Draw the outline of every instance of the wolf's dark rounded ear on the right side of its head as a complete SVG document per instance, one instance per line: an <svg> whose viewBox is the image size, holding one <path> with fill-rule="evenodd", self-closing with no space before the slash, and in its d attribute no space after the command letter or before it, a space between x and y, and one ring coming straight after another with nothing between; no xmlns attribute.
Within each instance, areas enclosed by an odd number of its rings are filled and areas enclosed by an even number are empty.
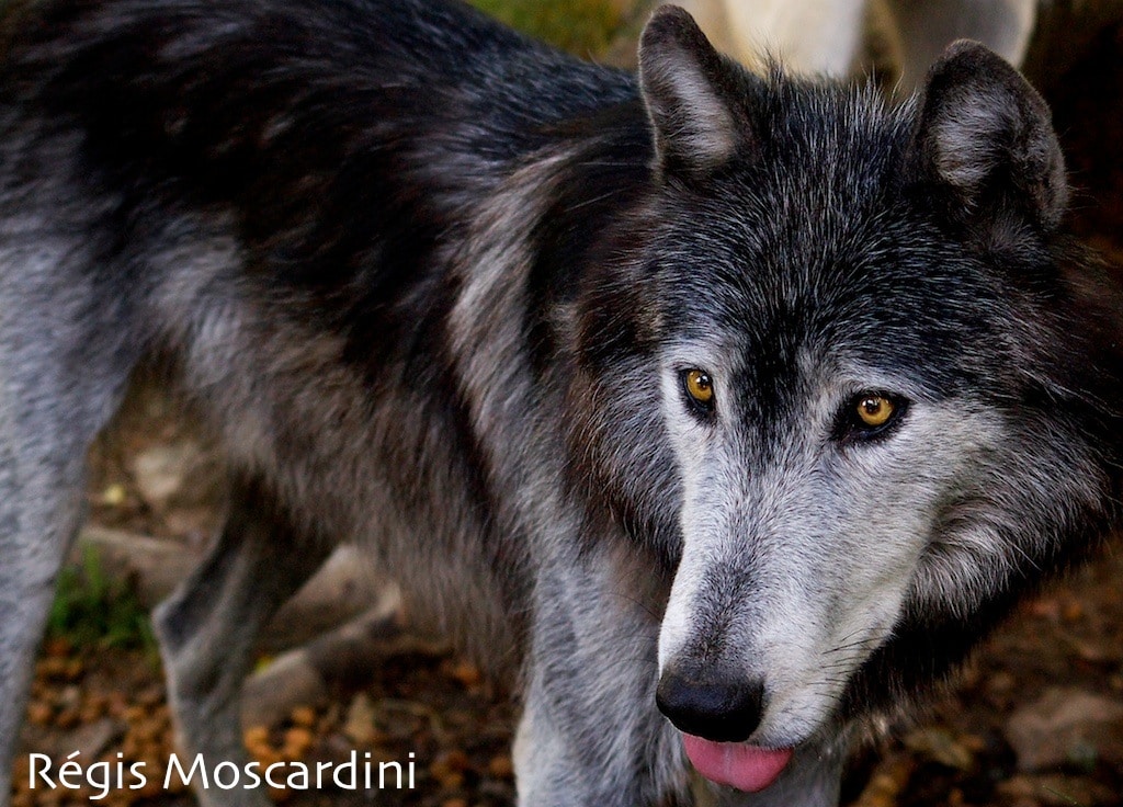
<svg viewBox="0 0 1123 807"><path fill-rule="evenodd" d="M979 43L953 43L932 66L912 149L922 176L967 222L1013 213L1048 230L1065 212L1065 158L1049 108Z"/></svg>

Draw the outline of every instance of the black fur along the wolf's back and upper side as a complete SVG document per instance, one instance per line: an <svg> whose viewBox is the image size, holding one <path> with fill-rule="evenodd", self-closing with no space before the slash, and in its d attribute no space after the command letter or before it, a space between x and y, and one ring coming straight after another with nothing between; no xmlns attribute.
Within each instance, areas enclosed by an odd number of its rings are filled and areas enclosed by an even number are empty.
<svg viewBox="0 0 1123 807"><path fill-rule="evenodd" d="M433 251L563 121L620 102L641 126L629 77L466 7L47 3L25 17L9 20L6 95L83 132L92 192L128 189L126 221L144 205L236 211L247 267L344 333L359 365L426 339L387 301L441 294Z"/></svg>

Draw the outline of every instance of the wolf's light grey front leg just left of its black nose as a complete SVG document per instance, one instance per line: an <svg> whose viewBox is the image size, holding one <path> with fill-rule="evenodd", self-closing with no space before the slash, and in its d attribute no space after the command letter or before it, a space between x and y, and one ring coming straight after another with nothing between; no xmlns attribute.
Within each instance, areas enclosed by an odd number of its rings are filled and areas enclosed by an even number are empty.
<svg viewBox="0 0 1123 807"><path fill-rule="evenodd" d="M685 804L681 743L655 705L660 608L590 572L606 565L586 560L593 566L544 576L536 590L514 744L519 804Z"/></svg>

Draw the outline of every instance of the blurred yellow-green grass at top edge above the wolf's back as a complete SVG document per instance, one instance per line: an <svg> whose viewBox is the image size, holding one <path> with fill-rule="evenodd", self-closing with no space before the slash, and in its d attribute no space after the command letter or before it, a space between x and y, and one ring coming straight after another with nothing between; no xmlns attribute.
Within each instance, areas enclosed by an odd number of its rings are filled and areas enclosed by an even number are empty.
<svg viewBox="0 0 1123 807"><path fill-rule="evenodd" d="M596 56L608 48L624 20L612 0L471 0L512 28L578 56Z"/></svg>

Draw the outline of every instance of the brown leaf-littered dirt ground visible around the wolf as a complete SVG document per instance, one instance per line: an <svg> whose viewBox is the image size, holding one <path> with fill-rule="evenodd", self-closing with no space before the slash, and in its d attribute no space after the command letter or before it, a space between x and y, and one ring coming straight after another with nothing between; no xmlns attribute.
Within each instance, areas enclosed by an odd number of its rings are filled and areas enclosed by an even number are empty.
<svg viewBox="0 0 1123 807"><path fill-rule="evenodd" d="M1123 31L1106 33L1092 55L1050 92L1077 195L1077 227L1123 278ZM137 476L138 457L179 444L162 412L126 419L94 451L92 517L109 526L201 544L217 522L211 489L176 502ZM207 488L206 455L191 478ZM158 465L158 462L156 464ZM144 462L140 464L144 466ZM387 640L367 676L340 682L319 703L272 726L247 731L252 753L280 759L345 759L408 764L416 787L377 794L328 788L275 790L296 805L510 805L513 708L471 664L428 640ZM158 661L150 648L46 642L17 763L15 805L89 804L97 789L27 788L27 753L58 762L73 750L92 759L145 761L149 785L117 789L103 804L188 804L165 790L172 751ZM120 756L118 756L120 754ZM1123 552L1106 547L1028 602L985 643L947 695L911 726L856 760L847 799L862 807L994 805L1108 807L1123 804Z"/></svg>

